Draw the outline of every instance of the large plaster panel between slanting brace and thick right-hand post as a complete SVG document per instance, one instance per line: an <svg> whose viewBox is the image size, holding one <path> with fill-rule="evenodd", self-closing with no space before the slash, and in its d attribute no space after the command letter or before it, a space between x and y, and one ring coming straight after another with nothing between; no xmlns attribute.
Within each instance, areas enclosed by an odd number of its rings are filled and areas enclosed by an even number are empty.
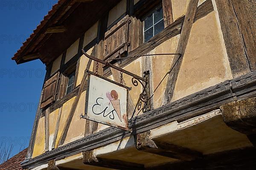
<svg viewBox="0 0 256 170"><path fill-rule="evenodd" d="M233 79L215 12L193 24L173 101Z"/></svg>

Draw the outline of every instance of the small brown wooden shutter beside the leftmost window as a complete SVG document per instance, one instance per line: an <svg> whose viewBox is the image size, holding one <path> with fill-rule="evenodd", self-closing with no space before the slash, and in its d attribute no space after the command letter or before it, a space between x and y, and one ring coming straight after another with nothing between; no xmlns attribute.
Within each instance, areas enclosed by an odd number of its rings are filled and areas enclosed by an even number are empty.
<svg viewBox="0 0 256 170"><path fill-rule="evenodd" d="M55 101L57 88L58 88L59 72L44 83L43 96L41 101L41 107L51 104Z"/></svg>

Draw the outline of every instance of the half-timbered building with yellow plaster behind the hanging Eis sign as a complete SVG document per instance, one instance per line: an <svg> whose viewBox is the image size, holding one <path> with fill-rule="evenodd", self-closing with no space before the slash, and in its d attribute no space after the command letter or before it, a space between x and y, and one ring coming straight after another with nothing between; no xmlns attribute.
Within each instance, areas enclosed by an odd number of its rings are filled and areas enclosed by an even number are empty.
<svg viewBox="0 0 256 170"><path fill-rule="evenodd" d="M58 0L12 58L47 70L22 167L255 169L255 9L254 0ZM126 129L83 119L89 75L129 88Z"/></svg>

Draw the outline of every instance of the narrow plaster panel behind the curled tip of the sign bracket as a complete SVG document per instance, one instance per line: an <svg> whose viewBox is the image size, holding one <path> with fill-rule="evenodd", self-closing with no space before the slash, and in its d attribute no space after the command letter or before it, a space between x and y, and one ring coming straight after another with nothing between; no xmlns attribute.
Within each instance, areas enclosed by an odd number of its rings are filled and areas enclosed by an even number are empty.
<svg viewBox="0 0 256 170"><path fill-rule="evenodd" d="M93 52L93 48L90 48L90 50L88 50L86 53L91 55ZM82 55L80 57L80 62L79 62L79 69L78 69L78 76L77 76L77 81L76 81L76 86L80 85L82 82L82 79L84 77L84 71L87 67L87 63L89 61L89 58L87 58L85 55ZM90 71L93 71L93 62L90 65Z"/></svg>

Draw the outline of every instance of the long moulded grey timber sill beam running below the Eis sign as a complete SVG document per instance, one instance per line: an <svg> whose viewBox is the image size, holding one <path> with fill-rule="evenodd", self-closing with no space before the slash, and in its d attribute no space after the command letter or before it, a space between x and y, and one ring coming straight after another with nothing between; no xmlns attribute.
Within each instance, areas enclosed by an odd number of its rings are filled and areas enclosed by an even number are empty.
<svg viewBox="0 0 256 170"><path fill-rule="evenodd" d="M230 88L233 90L231 91ZM51 159L59 160L76 153L93 150L105 146L106 144L117 142L130 135L143 133L173 121L180 122L213 111L218 109L221 105L233 102L233 93L236 94L238 100L256 96L256 71L232 80L221 82L168 105L137 116L129 122L129 127L133 129L132 133L109 127L47 153L43 153L33 159L26 160L22 163L22 166L25 168L37 167Z"/></svg>

